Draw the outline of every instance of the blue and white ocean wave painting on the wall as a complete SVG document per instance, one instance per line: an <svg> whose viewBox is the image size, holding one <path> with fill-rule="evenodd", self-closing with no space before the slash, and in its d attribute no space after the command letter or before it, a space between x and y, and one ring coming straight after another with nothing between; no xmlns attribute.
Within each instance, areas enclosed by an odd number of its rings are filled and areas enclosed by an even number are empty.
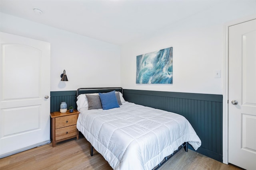
<svg viewBox="0 0 256 170"><path fill-rule="evenodd" d="M172 47L137 56L136 84L172 84Z"/></svg>

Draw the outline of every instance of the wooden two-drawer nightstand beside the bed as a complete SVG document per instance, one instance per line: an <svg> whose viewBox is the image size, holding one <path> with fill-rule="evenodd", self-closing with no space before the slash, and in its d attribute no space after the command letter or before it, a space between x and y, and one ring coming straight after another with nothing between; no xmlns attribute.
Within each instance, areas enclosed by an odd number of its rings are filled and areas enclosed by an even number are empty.
<svg viewBox="0 0 256 170"><path fill-rule="evenodd" d="M55 144L60 141L74 137L76 137L76 140L79 139L79 133L76 129L76 121L79 113L75 109L72 113L69 113L69 110L66 113L60 113L59 111L51 113L52 147L55 147Z"/></svg>

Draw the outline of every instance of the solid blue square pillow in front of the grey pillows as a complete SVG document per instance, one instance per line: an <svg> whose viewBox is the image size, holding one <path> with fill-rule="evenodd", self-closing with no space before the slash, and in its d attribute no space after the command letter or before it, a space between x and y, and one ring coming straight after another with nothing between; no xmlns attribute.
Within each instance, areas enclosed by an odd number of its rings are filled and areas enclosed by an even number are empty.
<svg viewBox="0 0 256 170"><path fill-rule="evenodd" d="M99 93L99 95L103 110L120 107L116 99L115 91L108 93Z"/></svg>

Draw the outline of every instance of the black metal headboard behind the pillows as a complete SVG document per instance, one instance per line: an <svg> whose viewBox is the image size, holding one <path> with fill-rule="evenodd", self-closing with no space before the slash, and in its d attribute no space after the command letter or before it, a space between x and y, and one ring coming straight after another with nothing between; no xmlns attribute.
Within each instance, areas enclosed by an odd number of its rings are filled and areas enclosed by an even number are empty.
<svg viewBox="0 0 256 170"><path fill-rule="evenodd" d="M117 92L121 92L123 94L122 87L105 87L105 88L78 88L76 90L76 97L79 94L88 94L88 93L106 93L116 90Z"/></svg>

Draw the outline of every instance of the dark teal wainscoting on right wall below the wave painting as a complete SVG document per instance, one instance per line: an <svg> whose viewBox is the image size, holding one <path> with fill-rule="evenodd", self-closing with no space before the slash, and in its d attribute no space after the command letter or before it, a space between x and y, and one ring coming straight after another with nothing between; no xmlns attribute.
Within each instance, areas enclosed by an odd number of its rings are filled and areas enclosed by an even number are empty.
<svg viewBox="0 0 256 170"><path fill-rule="evenodd" d="M222 162L222 95L124 89L124 99L183 115L202 141L196 150ZM192 149L192 147L189 147ZM194 149L192 149L194 150Z"/></svg>

